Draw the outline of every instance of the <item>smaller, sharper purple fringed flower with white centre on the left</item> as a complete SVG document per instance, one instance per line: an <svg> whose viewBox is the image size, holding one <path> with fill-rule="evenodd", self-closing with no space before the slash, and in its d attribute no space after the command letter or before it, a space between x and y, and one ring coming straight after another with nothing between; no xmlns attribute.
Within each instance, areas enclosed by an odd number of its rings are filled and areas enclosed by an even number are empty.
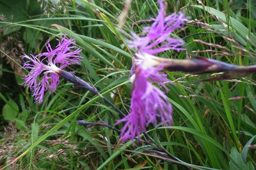
<svg viewBox="0 0 256 170"><path fill-rule="evenodd" d="M28 59L24 63L24 69L31 69L31 72L24 78L24 85L28 86L33 91L36 103L42 103L44 92L49 90L49 93L56 90L60 83L58 73L61 69L71 64L79 64L81 57L78 55L81 48L72 46L75 43L74 39L66 39L66 35L58 39L59 43L54 50L50 43L46 45L47 52L31 56L24 55L24 59ZM40 60L41 59L41 60ZM40 74L44 73L42 79ZM39 81L40 80L40 81Z"/></svg>

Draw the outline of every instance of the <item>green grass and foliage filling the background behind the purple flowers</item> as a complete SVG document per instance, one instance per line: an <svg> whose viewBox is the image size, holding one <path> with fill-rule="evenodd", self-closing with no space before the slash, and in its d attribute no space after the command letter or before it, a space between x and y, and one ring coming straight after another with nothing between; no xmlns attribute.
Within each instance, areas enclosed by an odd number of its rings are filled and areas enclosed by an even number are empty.
<svg viewBox="0 0 256 170"><path fill-rule="evenodd" d="M255 64L255 1L172 1L167 13L188 16L173 36L186 41L186 52L161 57L186 59L188 53L230 64ZM67 34L81 46L83 62L68 71L91 81L116 107L129 113L132 51L125 39L138 20L154 18L153 0L134 0L122 29L118 16L125 2L0 1L0 168L6 169L254 169L256 165L255 74L228 81L200 81L170 72L167 96L173 104L172 127L150 127L145 143L120 144L107 127L81 127L76 120L114 125L118 113L91 92L61 80L56 93L35 104L20 69L24 53L45 51L51 37ZM211 7L208 8L207 6ZM201 41L198 41L201 40ZM160 56L159 55L159 56ZM116 128L121 129L122 124ZM176 159L173 159L173 158Z"/></svg>

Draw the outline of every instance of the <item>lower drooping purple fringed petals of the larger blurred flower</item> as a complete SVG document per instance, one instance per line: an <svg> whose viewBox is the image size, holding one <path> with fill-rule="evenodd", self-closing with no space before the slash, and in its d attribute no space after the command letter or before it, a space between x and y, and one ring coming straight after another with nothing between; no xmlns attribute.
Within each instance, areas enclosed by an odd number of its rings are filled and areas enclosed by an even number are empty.
<svg viewBox="0 0 256 170"><path fill-rule="evenodd" d="M159 67L150 69L136 67L132 83L131 113L116 122L116 124L125 122L121 130L122 141L140 136L141 131L146 131L150 123L157 125L157 118L161 118L164 125L172 124L172 105L164 92L150 83L150 81L157 82L166 89L163 83L168 81L166 74L157 73L158 71Z"/></svg>

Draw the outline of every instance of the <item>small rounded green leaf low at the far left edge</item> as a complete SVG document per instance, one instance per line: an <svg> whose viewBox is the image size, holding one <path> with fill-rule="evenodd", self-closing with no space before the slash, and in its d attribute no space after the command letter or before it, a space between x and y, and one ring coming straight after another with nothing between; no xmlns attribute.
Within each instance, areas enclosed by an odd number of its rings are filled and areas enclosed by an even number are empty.
<svg viewBox="0 0 256 170"><path fill-rule="evenodd" d="M4 120L14 120L19 114L19 106L12 99L3 107Z"/></svg>

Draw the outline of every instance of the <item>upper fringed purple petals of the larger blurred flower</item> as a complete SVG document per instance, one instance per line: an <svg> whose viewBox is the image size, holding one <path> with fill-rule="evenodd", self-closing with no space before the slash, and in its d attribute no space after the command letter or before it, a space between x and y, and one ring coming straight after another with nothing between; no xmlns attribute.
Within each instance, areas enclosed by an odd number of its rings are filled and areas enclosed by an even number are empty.
<svg viewBox="0 0 256 170"><path fill-rule="evenodd" d="M137 53L154 55L166 50L184 50L184 48L180 48L184 44L182 40L170 37L171 32L182 28L185 20L184 13L173 13L164 17L164 3L162 0L158 0L158 2L160 9L157 18L150 27L143 27L143 34L146 34L146 36L138 36L134 32L131 33L133 40L129 41L129 46L136 48ZM161 43L163 44L161 45Z"/></svg>

